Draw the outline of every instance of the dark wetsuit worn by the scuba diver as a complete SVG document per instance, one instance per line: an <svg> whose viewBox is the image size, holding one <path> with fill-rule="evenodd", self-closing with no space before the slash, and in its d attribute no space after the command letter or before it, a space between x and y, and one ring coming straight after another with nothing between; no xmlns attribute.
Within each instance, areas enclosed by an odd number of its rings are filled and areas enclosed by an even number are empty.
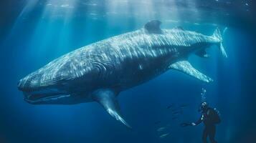
<svg viewBox="0 0 256 143"><path fill-rule="evenodd" d="M204 112L202 112L202 117L197 122L192 123L192 125L196 126L197 124L204 122L204 132L202 135L204 143L207 143L208 136L211 143L217 143L214 139L216 132L216 127L213 119L214 112L214 109L207 108L204 110Z"/></svg>

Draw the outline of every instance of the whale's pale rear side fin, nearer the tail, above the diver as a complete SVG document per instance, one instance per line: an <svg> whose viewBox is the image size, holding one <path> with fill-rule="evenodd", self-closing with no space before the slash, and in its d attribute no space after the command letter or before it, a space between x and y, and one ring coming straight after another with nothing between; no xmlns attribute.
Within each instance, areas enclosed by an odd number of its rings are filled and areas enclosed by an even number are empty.
<svg viewBox="0 0 256 143"><path fill-rule="evenodd" d="M169 68L183 71L184 73L189 74L190 76L195 77L196 79L202 80L204 82L213 82L211 78L194 69L194 67L191 66L189 61L177 61L176 63L171 64Z"/></svg>

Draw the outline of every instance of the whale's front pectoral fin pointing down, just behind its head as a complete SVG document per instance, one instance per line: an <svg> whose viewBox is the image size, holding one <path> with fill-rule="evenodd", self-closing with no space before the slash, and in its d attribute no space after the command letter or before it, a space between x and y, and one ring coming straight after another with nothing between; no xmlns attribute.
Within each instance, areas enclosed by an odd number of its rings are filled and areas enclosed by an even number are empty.
<svg viewBox="0 0 256 143"><path fill-rule="evenodd" d="M125 124L126 127L131 128L131 126L125 122L123 116L120 114L120 107L114 90L98 89L97 91L93 92L93 99L100 103L112 117Z"/></svg>

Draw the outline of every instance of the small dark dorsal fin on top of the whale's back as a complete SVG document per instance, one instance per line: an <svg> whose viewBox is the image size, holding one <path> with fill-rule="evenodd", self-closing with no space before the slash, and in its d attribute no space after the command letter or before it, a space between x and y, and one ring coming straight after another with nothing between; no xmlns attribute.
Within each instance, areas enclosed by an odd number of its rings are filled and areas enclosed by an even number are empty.
<svg viewBox="0 0 256 143"><path fill-rule="evenodd" d="M162 30L160 29L161 21L152 20L144 25L148 34L162 34Z"/></svg>

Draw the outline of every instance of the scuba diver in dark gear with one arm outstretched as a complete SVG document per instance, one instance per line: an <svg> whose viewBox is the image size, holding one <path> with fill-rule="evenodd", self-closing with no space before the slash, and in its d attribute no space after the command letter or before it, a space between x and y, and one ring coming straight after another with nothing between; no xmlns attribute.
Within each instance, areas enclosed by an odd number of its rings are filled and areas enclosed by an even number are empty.
<svg viewBox="0 0 256 143"><path fill-rule="evenodd" d="M217 143L214 139L214 136L216 132L215 124L219 124L221 122L219 118L219 112L217 109L212 109L209 107L207 102L202 102L199 107L199 112L202 113L202 116L197 122L182 123L181 126L196 126L197 124L204 122L204 132L202 135L203 143L207 143L208 136L211 143Z"/></svg>

